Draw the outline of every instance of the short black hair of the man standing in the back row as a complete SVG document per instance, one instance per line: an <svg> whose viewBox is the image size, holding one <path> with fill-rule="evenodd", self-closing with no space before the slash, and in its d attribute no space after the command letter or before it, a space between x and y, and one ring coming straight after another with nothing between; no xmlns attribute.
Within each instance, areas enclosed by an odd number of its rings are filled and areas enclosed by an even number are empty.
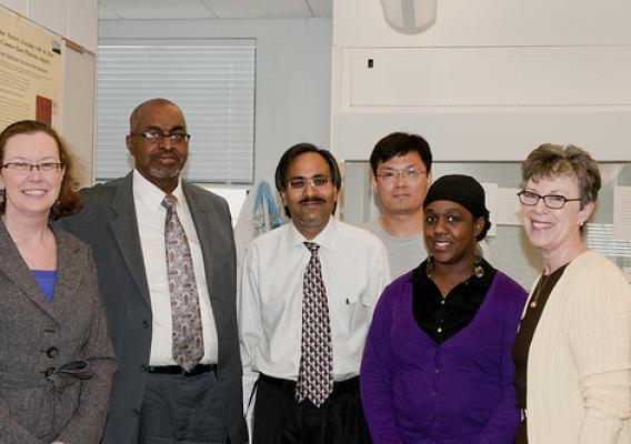
<svg viewBox="0 0 631 444"><path fill-rule="evenodd" d="M372 173L377 174L377 167L379 167L381 162L387 162L399 155L405 155L409 152L419 153L419 157L425 164L428 173L432 171L432 151L428 141L418 134L393 132L381 139L374 145L370 154Z"/></svg>

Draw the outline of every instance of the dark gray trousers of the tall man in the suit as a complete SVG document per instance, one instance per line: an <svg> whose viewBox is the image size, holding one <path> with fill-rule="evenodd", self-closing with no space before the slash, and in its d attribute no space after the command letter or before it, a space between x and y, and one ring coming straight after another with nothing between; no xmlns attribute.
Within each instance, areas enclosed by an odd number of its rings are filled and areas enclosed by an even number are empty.
<svg viewBox="0 0 631 444"><path fill-rule="evenodd" d="M213 371L149 373L138 426L140 444L224 444L221 391Z"/></svg>

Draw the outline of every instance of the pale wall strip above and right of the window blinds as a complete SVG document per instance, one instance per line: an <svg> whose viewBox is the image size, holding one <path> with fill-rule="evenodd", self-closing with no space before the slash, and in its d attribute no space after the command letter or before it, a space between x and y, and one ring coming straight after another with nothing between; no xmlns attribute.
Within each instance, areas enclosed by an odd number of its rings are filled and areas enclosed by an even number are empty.
<svg viewBox="0 0 631 444"><path fill-rule="evenodd" d="M329 145L330 19L101 20L99 38L256 38L256 176L273 183L294 143Z"/></svg>

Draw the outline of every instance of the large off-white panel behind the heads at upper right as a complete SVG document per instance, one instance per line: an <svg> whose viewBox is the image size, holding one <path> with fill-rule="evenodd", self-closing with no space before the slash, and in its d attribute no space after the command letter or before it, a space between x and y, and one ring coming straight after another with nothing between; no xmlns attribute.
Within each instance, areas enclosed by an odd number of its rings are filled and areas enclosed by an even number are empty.
<svg viewBox="0 0 631 444"><path fill-rule="evenodd" d="M519 161L543 142L630 160L629 17L629 0L439 0L409 36L379 0L334 0L333 151L367 159L407 130L439 161Z"/></svg>

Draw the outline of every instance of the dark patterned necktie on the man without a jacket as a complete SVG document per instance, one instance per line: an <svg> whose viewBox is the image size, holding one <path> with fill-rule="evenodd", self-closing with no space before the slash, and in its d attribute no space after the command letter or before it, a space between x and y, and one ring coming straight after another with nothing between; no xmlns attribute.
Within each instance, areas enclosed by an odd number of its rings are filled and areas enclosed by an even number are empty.
<svg viewBox="0 0 631 444"><path fill-rule="evenodd" d="M311 400L319 407L333 391L333 345L327 290L322 282L320 245L304 242L311 259L302 281L302 342L296 401Z"/></svg>

